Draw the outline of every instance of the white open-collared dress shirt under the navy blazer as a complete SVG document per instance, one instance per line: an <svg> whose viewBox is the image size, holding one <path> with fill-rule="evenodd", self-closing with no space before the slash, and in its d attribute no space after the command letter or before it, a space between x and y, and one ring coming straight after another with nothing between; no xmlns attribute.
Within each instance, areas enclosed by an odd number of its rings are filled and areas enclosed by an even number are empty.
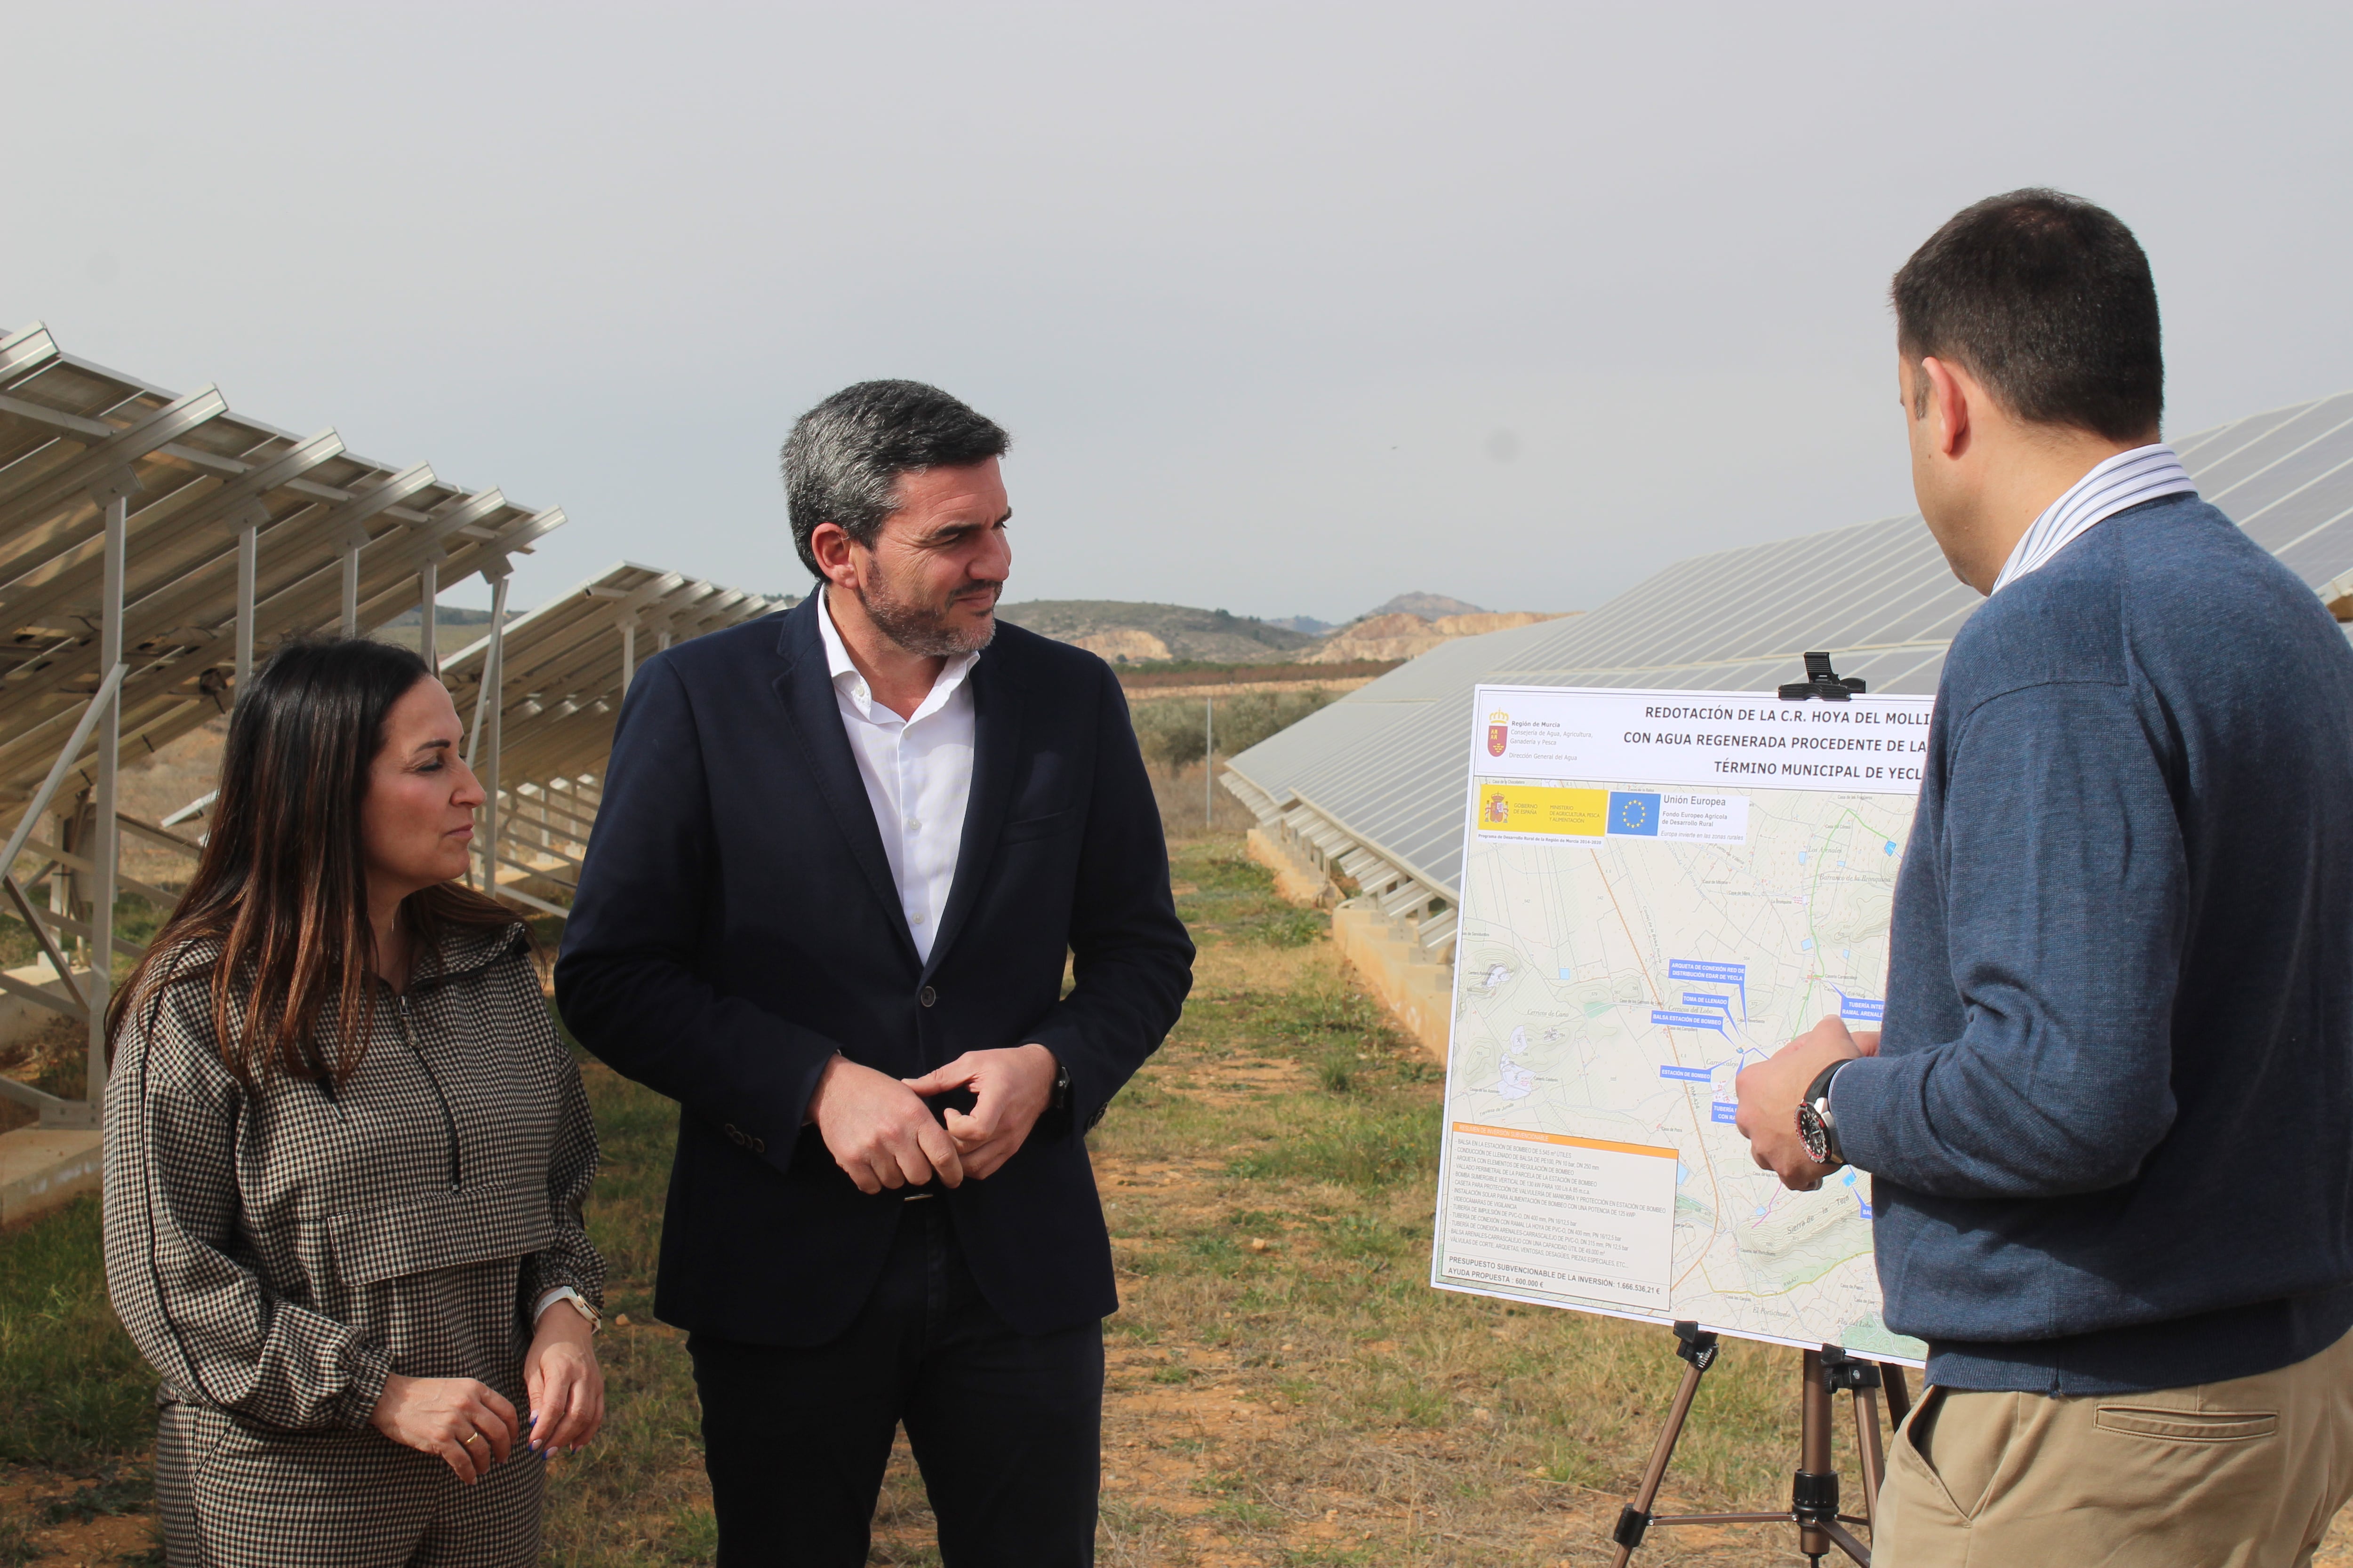
<svg viewBox="0 0 2353 1568"><path fill-rule="evenodd" d="M875 701L866 677L849 663L824 588L816 632L826 639L833 705L842 710L849 752L866 780L866 804L882 830L899 912L915 938L915 952L929 961L939 914L955 884L955 851L965 839L965 802L972 797L972 686L965 677L981 656L951 658L915 717L901 719Z"/></svg>

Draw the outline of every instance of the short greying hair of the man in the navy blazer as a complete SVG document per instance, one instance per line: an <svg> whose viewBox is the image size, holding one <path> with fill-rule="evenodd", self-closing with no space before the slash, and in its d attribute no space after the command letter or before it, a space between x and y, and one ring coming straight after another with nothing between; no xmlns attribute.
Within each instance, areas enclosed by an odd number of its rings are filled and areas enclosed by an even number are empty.
<svg viewBox="0 0 2353 1568"><path fill-rule="evenodd" d="M1012 437L936 386L920 381L859 381L793 421L784 437L784 510L793 548L812 576L809 534L838 522L842 534L873 550L894 510L899 475L925 468L965 468L1000 458Z"/></svg>

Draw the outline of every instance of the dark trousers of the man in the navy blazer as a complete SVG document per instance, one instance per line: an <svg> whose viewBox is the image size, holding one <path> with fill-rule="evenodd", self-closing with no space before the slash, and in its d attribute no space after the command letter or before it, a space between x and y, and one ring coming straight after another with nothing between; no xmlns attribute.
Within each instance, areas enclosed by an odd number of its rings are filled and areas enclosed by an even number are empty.
<svg viewBox="0 0 2353 1568"><path fill-rule="evenodd" d="M1094 1563L1104 1326L1007 1328L944 1201L906 1204L882 1279L838 1340L692 1335L687 1352L720 1568L861 1568L899 1422L946 1568Z"/></svg>

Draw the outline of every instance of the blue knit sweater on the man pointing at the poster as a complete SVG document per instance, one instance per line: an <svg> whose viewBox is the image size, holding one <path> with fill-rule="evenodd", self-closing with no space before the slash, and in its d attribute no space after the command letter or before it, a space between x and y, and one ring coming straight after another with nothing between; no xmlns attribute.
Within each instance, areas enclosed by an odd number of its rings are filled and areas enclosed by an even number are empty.
<svg viewBox="0 0 2353 1568"><path fill-rule="evenodd" d="M1953 639L1831 1112L1932 1382L2184 1387L2353 1326L2353 649L2212 505Z"/></svg>

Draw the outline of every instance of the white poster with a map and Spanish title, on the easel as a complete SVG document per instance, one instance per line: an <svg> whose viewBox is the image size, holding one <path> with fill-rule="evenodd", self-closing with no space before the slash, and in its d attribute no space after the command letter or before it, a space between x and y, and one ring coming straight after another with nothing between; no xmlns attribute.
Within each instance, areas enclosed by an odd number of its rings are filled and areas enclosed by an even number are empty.
<svg viewBox="0 0 2353 1568"><path fill-rule="evenodd" d="M1786 1192L1732 1077L1878 1027L1929 698L1480 686L1431 1284L1918 1361L1871 1178Z"/></svg>

